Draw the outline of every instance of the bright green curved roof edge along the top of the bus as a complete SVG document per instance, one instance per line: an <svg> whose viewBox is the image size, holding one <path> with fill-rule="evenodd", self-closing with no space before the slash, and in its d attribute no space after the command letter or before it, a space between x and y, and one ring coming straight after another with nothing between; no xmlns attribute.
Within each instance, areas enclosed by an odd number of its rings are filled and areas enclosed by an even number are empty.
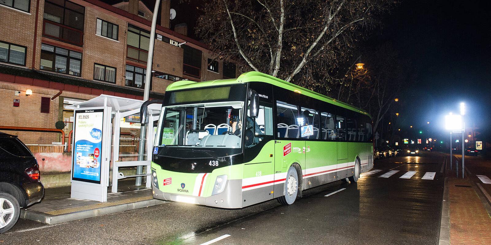
<svg viewBox="0 0 491 245"><path fill-rule="evenodd" d="M300 94L307 95L314 99L322 100L342 108L350 109L358 113L368 115L371 118L371 115L362 109L356 108L352 105L327 97L326 95L314 92L312 90L300 87L299 85L293 84L291 82L286 82L279 78L275 78L273 76L261 72L256 72L256 71L246 72L240 75L236 79L222 79L222 80L211 80L211 81L203 81L203 82L182 80L182 81L171 83L169 86L167 86L167 89L165 89L165 91L199 88L199 87L207 87L207 86L232 85L232 84L236 84L237 82L267 82L278 87L282 87L291 91L298 92Z"/></svg>

